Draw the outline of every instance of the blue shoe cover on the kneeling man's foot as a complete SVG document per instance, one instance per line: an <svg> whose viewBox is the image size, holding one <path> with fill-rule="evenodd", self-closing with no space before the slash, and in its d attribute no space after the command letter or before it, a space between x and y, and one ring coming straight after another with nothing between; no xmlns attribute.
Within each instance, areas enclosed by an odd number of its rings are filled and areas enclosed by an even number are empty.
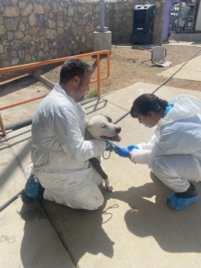
<svg viewBox="0 0 201 268"><path fill-rule="evenodd" d="M40 189L40 183L38 181L38 178L34 174L31 174L25 185L24 192L28 195L28 197L36 198L39 197L40 195L39 189Z"/></svg>

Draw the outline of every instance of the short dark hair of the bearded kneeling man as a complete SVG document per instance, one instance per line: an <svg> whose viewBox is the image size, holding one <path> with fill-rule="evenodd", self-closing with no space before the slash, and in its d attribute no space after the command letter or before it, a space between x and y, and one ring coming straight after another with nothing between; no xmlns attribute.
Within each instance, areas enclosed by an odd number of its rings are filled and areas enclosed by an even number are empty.
<svg viewBox="0 0 201 268"><path fill-rule="evenodd" d="M92 72L93 68L88 63L79 58L71 58L66 60L61 68L59 83L65 84L75 75L81 79L85 74Z"/></svg>

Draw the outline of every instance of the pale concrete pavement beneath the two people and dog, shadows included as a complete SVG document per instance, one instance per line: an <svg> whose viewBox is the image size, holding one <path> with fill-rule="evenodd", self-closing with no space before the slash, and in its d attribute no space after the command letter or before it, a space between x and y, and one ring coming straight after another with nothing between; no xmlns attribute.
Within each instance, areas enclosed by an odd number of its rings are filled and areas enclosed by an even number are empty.
<svg viewBox="0 0 201 268"><path fill-rule="evenodd" d="M84 106L87 117L103 113L117 120L136 97L157 85L136 83ZM163 86L162 99L201 93ZM120 146L148 141L147 129L129 116L120 123ZM0 206L24 186L30 162L30 127L8 134L0 144ZM107 154L107 152L106 152ZM146 165L133 164L115 153L104 160L114 193L105 193L97 211L73 210L54 202L23 205L18 199L0 213L2 267L199 267L201 201L182 211L165 205L171 190ZM200 194L201 185L196 183Z"/></svg>

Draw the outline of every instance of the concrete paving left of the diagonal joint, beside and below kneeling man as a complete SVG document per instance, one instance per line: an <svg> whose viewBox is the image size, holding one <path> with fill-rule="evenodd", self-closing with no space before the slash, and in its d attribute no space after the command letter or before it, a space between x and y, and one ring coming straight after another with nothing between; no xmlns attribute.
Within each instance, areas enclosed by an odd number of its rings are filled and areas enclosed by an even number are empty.
<svg viewBox="0 0 201 268"><path fill-rule="evenodd" d="M30 127L11 132L7 143L0 141L0 206L24 188L30 146ZM74 267L39 204L17 199L0 212L0 226L0 267Z"/></svg>

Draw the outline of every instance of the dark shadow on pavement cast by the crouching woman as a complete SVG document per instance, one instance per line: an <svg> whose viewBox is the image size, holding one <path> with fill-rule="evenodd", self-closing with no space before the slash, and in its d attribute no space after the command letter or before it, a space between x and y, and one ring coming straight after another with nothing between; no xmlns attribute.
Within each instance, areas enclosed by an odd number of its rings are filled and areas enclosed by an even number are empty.
<svg viewBox="0 0 201 268"><path fill-rule="evenodd" d="M125 214L128 230L139 237L153 236L167 252L201 252L200 200L184 210L172 210L165 204L172 191L152 172L151 178L153 183L111 195L111 198L124 201L132 208ZM194 182L194 185L200 194L200 184Z"/></svg>

